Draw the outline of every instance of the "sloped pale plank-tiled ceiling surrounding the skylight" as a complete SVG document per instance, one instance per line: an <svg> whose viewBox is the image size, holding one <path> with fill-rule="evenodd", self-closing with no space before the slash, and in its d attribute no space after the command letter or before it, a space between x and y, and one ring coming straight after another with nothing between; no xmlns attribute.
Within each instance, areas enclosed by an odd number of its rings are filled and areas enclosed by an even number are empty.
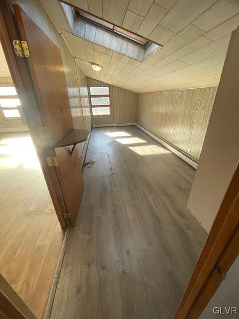
<svg viewBox="0 0 239 319"><path fill-rule="evenodd" d="M163 47L142 62L71 33L57 0L41 0L83 72L136 93L216 86L239 0L68 0ZM83 60L102 64L93 71Z"/></svg>

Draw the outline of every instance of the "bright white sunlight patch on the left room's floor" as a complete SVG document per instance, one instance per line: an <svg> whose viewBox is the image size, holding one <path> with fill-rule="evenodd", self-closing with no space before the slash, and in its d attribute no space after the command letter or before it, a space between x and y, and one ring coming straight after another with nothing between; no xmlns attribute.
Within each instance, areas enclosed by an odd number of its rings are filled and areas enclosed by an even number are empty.
<svg viewBox="0 0 239 319"><path fill-rule="evenodd" d="M0 167L41 169L36 151L30 137L0 140Z"/></svg>

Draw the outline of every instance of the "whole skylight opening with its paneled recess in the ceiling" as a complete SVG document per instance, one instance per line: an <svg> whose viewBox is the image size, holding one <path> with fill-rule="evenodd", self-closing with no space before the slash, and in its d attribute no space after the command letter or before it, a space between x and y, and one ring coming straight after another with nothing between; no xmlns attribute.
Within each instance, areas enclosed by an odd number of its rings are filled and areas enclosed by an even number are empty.
<svg viewBox="0 0 239 319"><path fill-rule="evenodd" d="M72 34L90 42L101 45L105 48L128 56L137 61L143 61L146 57L162 47L158 43L125 30L111 22L75 7L73 4L66 4L60 1L61 7L67 18ZM81 57L76 56L81 59ZM89 63L98 65L95 61ZM97 62L97 61L96 61ZM104 67L104 65L99 65ZM93 69L98 71L98 69Z"/></svg>

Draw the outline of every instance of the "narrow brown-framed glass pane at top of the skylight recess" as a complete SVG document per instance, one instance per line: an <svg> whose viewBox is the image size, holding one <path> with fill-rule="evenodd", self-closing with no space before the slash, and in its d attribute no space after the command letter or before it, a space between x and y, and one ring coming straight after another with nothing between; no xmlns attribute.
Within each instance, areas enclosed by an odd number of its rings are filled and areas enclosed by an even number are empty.
<svg viewBox="0 0 239 319"><path fill-rule="evenodd" d="M135 33L132 33L130 31L122 29L119 26L116 26L110 22L107 22L99 17L96 17L96 16L94 16L88 12L85 12L83 10L80 10L78 8L75 8L75 15L77 18L91 22L97 26L104 28L107 31L117 33L119 36L125 37L125 38L127 38L133 42L136 42L138 44L141 44L143 46L146 46L148 43L150 43L147 39L141 37L140 35L137 35Z"/></svg>

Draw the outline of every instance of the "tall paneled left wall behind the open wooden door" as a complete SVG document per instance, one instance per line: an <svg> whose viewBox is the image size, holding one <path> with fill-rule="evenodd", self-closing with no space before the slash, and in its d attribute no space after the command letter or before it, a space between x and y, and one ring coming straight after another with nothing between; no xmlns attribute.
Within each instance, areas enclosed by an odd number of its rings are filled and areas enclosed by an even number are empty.
<svg viewBox="0 0 239 319"><path fill-rule="evenodd" d="M89 103L87 104L87 85L86 77L76 64L75 58L60 35L60 32L53 24L49 15L41 5L39 0L8 0L9 5L18 4L29 17L49 36L49 38L60 48L63 64L65 68L65 77L68 88L68 95L73 117L73 126L76 129L91 129L89 117ZM82 94L82 95L81 95ZM82 105L82 102L84 105ZM88 109L88 111L87 111ZM81 154L84 149L84 143L78 147Z"/></svg>

